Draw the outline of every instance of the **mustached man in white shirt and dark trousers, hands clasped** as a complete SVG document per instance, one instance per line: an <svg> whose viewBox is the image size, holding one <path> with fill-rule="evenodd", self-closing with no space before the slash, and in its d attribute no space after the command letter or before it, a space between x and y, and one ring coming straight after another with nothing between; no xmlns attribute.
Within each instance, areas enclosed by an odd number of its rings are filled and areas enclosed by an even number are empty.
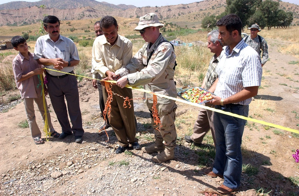
<svg viewBox="0 0 299 196"><path fill-rule="evenodd" d="M48 69L74 74L74 66L80 62L76 45L71 39L60 35L60 21L56 16L45 16L43 23L48 35L40 36L36 40L34 59ZM73 132L75 141L81 143L84 130L77 79L74 75L66 73L46 70L48 93L62 128L59 138L64 139ZM72 127L68 120L68 114Z"/></svg>

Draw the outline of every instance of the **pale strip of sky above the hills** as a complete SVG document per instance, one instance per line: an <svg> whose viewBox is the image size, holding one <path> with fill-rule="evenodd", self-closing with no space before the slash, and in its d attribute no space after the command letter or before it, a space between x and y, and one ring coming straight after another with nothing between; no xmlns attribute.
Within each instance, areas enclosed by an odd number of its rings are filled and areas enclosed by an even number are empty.
<svg viewBox="0 0 299 196"><path fill-rule="evenodd" d="M15 1L15 0L1 0L0 4L3 3L8 3L11 1ZM37 0L26 0L27 2L35 2ZM196 1L202 1L202 0L150 0L150 1L141 1L141 0L105 0L107 3L111 3L111 4L126 4L126 5L134 5L136 7L145 7L145 6L151 6L151 7L155 7L155 6L165 6L165 5L177 5L177 4L188 4L188 3L193 3ZM296 5L299 5L298 0L283 0L285 2L289 2L289 3L293 3ZM100 1L101 2L101 1Z"/></svg>

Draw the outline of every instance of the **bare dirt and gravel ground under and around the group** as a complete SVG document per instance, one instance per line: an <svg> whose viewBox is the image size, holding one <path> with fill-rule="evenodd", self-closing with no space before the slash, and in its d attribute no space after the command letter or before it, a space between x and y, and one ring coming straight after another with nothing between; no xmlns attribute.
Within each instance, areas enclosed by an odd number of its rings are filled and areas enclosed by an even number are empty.
<svg viewBox="0 0 299 196"><path fill-rule="evenodd" d="M263 67L262 87L250 105L249 115L298 130L299 64L289 62L299 59L277 51L287 42L267 41L270 61ZM97 134L103 122L97 118L100 113L98 92L91 87L91 81L83 79L79 84L85 129L82 144L75 143L74 137L67 137L64 140L50 138L43 145L35 145L29 129L18 127L26 117L23 103L0 114L0 195L191 196L202 195L199 193L202 190L222 183L220 178L203 175L206 167L200 166L203 156L195 149L190 150L182 140L176 148L176 158L165 164L168 168L164 171L156 171L160 165L151 161L151 154L130 150L132 154L116 155L113 148L117 140L113 131L108 130L108 142L105 142L106 135ZM143 94L134 91L134 96L141 98ZM134 105L138 131L145 131L144 125L150 122L147 107L140 99L134 100ZM52 108L51 111L54 128L61 132ZM198 108L178 103L178 137L193 127L197 112ZM38 111L36 118L42 127ZM272 189L271 195L298 193L298 185L288 180L299 176L299 165L292 158L292 150L299 148L298 141L290 132L248 122L243 136L243 163L251 164L259 172L254 176L242 174L242 185L235 195L254 195L255 191L250 189L258 186L265 187L265 192L266 188ZM142 146L150 142L144 135L140 136ZM200 154L200 149L197 151ZM114 164L123 160L129 165ZM208 167L212 161L206 161ZM61 172L62 176L54 178L54 171ZM13 179L17 180L9 182Z"/></svg>

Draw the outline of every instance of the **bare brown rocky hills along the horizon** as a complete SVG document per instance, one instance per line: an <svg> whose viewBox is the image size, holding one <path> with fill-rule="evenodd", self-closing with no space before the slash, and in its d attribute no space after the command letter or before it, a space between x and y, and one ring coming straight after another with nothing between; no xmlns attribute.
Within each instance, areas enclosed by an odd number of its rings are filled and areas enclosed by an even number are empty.
<svg viewBox="0 0 299 196"><path fill-rule="evenodd" d="M32 24L39 22L44 14L55 15L61 20L80 20L100 18L105 15L138 18L146 13L155 12L160 19L165 20L198 12L216 13L217 15L225 9L225 4L225 1L222 0L204 0L190 4L161 7L135 7L133 5L114 5L94 0L13 1L0 5L0 25ZM40 5L45 5L45 8L41 8ZM280 1L280 7L286 11L292 11L294 18L299 18L298 5Z"/></svg>

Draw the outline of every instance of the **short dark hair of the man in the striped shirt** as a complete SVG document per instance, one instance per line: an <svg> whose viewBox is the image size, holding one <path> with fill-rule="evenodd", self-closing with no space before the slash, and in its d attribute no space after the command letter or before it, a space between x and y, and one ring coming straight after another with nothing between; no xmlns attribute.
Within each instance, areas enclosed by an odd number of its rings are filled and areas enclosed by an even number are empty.
<svg viewBox="0 0 299 196"><path fill-rule="evenodd" d="M237 30L239 35L242 31L242 21L236 14L228 14L223 16L217 23L217 27L225 26L226 30L231 34L232 31Z"/></svg>

